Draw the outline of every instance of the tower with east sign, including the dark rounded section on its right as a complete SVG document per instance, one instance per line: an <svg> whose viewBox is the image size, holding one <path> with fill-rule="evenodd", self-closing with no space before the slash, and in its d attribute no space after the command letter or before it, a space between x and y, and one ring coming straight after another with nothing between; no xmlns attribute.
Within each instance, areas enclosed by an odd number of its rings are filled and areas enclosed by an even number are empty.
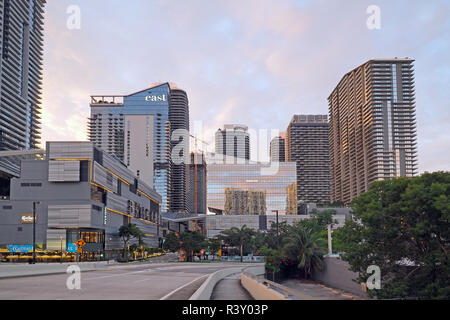
<svg viewBox="0 0 450 320"><path fill-rule="evenodd" d="M156 83L127 96L91 96L88 136L154 186L162 196L162 212L187 212L189 106L185 91L172 83ZM176 159L172 159L174 148L179 151Z"/></svg>

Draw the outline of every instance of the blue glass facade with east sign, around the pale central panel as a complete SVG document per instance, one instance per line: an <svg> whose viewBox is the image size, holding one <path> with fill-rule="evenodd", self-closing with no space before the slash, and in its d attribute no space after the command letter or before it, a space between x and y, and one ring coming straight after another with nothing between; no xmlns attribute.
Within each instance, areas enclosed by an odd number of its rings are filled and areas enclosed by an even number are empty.
<svg viewBox="0 0 450 320"><path fill-rule="evenodd" d="M171 190L169 97L168 83L124 96L123 101L119 103L115 101L117 97L93 97L89 123L90 140L124 161L125 117L127 115L153 116L153 187L162 197L162 212L169 210ZM145 139L144 133L142 139Z"/></svg>

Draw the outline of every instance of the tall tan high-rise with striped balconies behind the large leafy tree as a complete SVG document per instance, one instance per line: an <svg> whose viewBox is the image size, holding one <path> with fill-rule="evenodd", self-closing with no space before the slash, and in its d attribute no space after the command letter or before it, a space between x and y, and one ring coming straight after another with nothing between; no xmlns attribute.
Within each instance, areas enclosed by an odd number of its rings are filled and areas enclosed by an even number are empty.
<svg viewBox="0 0 450 320"><path fill-rule="evenodd" d="M372 182L417 173L413 59L375 59L328 98L331 198L349 203Z"/></svg>

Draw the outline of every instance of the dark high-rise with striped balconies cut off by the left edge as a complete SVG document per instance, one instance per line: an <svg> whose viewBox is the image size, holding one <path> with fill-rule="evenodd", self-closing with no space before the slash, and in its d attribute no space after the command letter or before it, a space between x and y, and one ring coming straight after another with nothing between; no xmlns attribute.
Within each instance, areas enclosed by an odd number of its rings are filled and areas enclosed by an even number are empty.
<svg viewBox="0 0 450 320"><path fill-rule="evenodd" d="M0 151L40 144L45 3L0 1ZM0 159L0 189L16 172L20 161Z"/></svg>

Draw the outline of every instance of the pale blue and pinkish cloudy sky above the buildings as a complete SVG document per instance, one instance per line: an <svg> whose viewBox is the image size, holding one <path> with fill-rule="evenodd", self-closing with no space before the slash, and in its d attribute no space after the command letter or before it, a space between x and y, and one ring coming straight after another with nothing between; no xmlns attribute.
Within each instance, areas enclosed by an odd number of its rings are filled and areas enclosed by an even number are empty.
<svg viewBox="0 0 450 320"><path fill-rule="evenodd" d="M348 71L413 58L419 172L450 170L448 0L49 0L44 50L43 143L87 140L91 95L174 82L209 148L224 124L270 138L294 114L327 114Z"/></svg>

